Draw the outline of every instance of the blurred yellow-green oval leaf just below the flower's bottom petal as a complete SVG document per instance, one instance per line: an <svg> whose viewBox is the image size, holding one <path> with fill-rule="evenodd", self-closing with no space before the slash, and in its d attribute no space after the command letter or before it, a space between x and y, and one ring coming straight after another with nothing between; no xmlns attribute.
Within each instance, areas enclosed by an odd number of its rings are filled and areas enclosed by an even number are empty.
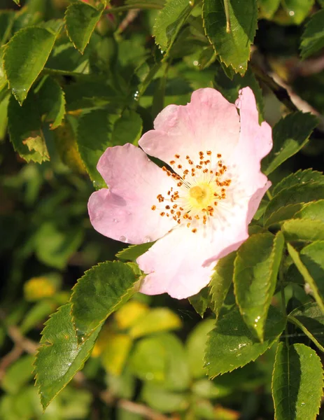
<svg viewBox="0 0 324 420"><path fill-rule="evenodd" d="M169 308L154 308L144 314L129 330L129 335L139 338L143 335L181 328L181 319Z"/></svg>

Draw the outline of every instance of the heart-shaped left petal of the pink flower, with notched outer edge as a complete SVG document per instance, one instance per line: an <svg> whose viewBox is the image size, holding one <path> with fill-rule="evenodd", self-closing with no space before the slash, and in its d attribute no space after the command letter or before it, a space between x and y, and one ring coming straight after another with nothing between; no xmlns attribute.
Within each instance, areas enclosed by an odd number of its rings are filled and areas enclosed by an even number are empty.
<svg viewBox="0 0 324 420"><path fill-rule="evenodd" d="M166 194L174 181L140 148L132 144L108 148L97 169L109 189L90 197L88 210L95 230L118 241L143 244L174 228L176 222L171 217L160 216L157 201L157 195Z"/></svg>

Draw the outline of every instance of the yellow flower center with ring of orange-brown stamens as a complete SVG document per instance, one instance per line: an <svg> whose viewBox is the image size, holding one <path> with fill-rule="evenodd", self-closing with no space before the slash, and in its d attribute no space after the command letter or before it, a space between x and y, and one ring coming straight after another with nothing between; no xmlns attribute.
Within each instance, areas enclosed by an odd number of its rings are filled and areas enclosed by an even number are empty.
<svg viewBox="0 0 324 420"><path fill-rule="evenodd" d="M174 187L167 194L157 195L157 204L153 204L151 209L157 209L160 216L171 217L179 225L185 223L192 232L197 232L197 228L214 218L214 211L220 200L225 200L226 190L232 181L225 179L227 167L221 157L220 153L213 158L211 151L199 152L198 160L194 162L188 155L185 160L180 155L174 155L175 160L171 160L169 165L178 173L162 167L167 176L174 179Z"/></svg>

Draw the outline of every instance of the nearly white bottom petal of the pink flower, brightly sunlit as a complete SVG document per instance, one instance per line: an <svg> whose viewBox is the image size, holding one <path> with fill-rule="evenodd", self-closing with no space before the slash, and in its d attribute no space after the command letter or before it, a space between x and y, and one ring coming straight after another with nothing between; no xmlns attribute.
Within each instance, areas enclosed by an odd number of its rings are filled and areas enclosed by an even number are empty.
<svg viewBox="0 0 324 420"><path fill-rule="evenodd" d="M195 295L211 280L217 260L235 251L248 237L244 222L219 229L213 237L208 233L205 236L203 229L193 233L185 226L174 229L137 258L148 274L140 291L147 295L169 293L176 299Z"/></svg>

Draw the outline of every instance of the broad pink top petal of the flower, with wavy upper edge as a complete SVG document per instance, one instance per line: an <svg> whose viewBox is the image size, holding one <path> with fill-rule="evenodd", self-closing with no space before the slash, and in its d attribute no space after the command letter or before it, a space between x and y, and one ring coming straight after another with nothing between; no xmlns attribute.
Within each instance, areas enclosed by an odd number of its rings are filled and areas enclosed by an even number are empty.
<svg viewBox="0 0 324 420"><path fill-rule="evenodd" d="M167 106L155 118L154 127L143 135L139 145L148 155L168 164L175 155L183 159L189 155L196 160L199 151L226 157L239 139L236 107L211 88L193 92L191 102L185 106ZM185 167L185 160L179 162ZM171 166L176 170L176 166Z"/></svg>

